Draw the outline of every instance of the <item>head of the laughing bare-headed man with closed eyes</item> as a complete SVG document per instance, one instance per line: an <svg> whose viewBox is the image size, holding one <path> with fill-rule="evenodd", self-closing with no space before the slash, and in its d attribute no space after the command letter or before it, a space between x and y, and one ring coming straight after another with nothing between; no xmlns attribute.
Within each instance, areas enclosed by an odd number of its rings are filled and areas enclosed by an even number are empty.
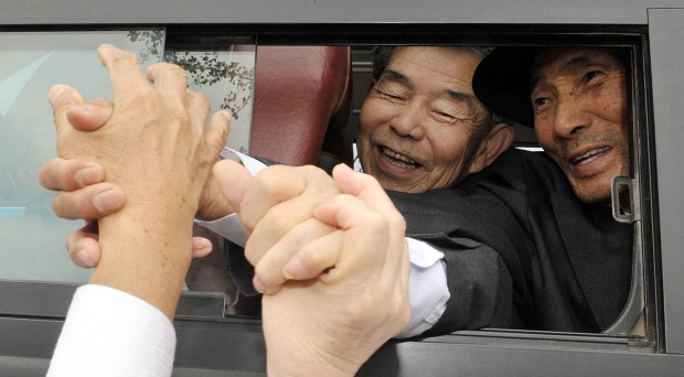
<svg viewBox="0 0 684 377"><path fill-rule="evenodd" d="M487 51L378 47L357 136L364 173L386 190L450 187L492 163L512 130L472 93Z"/></svg>

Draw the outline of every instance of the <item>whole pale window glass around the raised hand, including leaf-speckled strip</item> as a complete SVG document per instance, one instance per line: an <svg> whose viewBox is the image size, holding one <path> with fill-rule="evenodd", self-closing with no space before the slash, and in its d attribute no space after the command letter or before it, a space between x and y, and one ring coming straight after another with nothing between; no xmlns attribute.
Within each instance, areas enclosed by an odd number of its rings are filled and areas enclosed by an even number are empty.
<svg viewBox="0 0 684 377"><path fill-rule="evenodd" d="M184 65L190 87L205 93L213 109L231 109L242 125L235 127L242 132L231 132L229 146L248 150L254 49L164 55L162 29L0 33L1 280L86 282L90 276L72 263L64 246L83 222L53 214L53 193L41 187L38 174L56 155L50 87L64 83L85 98L110 98L107 72L95 54L103 43L137 53L143 67L164 56Z"/></svg>

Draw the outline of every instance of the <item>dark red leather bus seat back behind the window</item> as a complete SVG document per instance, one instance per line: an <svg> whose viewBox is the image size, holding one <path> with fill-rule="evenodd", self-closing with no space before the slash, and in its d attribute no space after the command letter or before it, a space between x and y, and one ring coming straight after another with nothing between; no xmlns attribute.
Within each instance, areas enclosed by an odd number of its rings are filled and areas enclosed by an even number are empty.
<svg viewBox="0 0 684 377"><path fill-rule="evenodd" d="M327 140L351 165L349 46L257 46L255 77L252 155L317 164Z"/></svg>

